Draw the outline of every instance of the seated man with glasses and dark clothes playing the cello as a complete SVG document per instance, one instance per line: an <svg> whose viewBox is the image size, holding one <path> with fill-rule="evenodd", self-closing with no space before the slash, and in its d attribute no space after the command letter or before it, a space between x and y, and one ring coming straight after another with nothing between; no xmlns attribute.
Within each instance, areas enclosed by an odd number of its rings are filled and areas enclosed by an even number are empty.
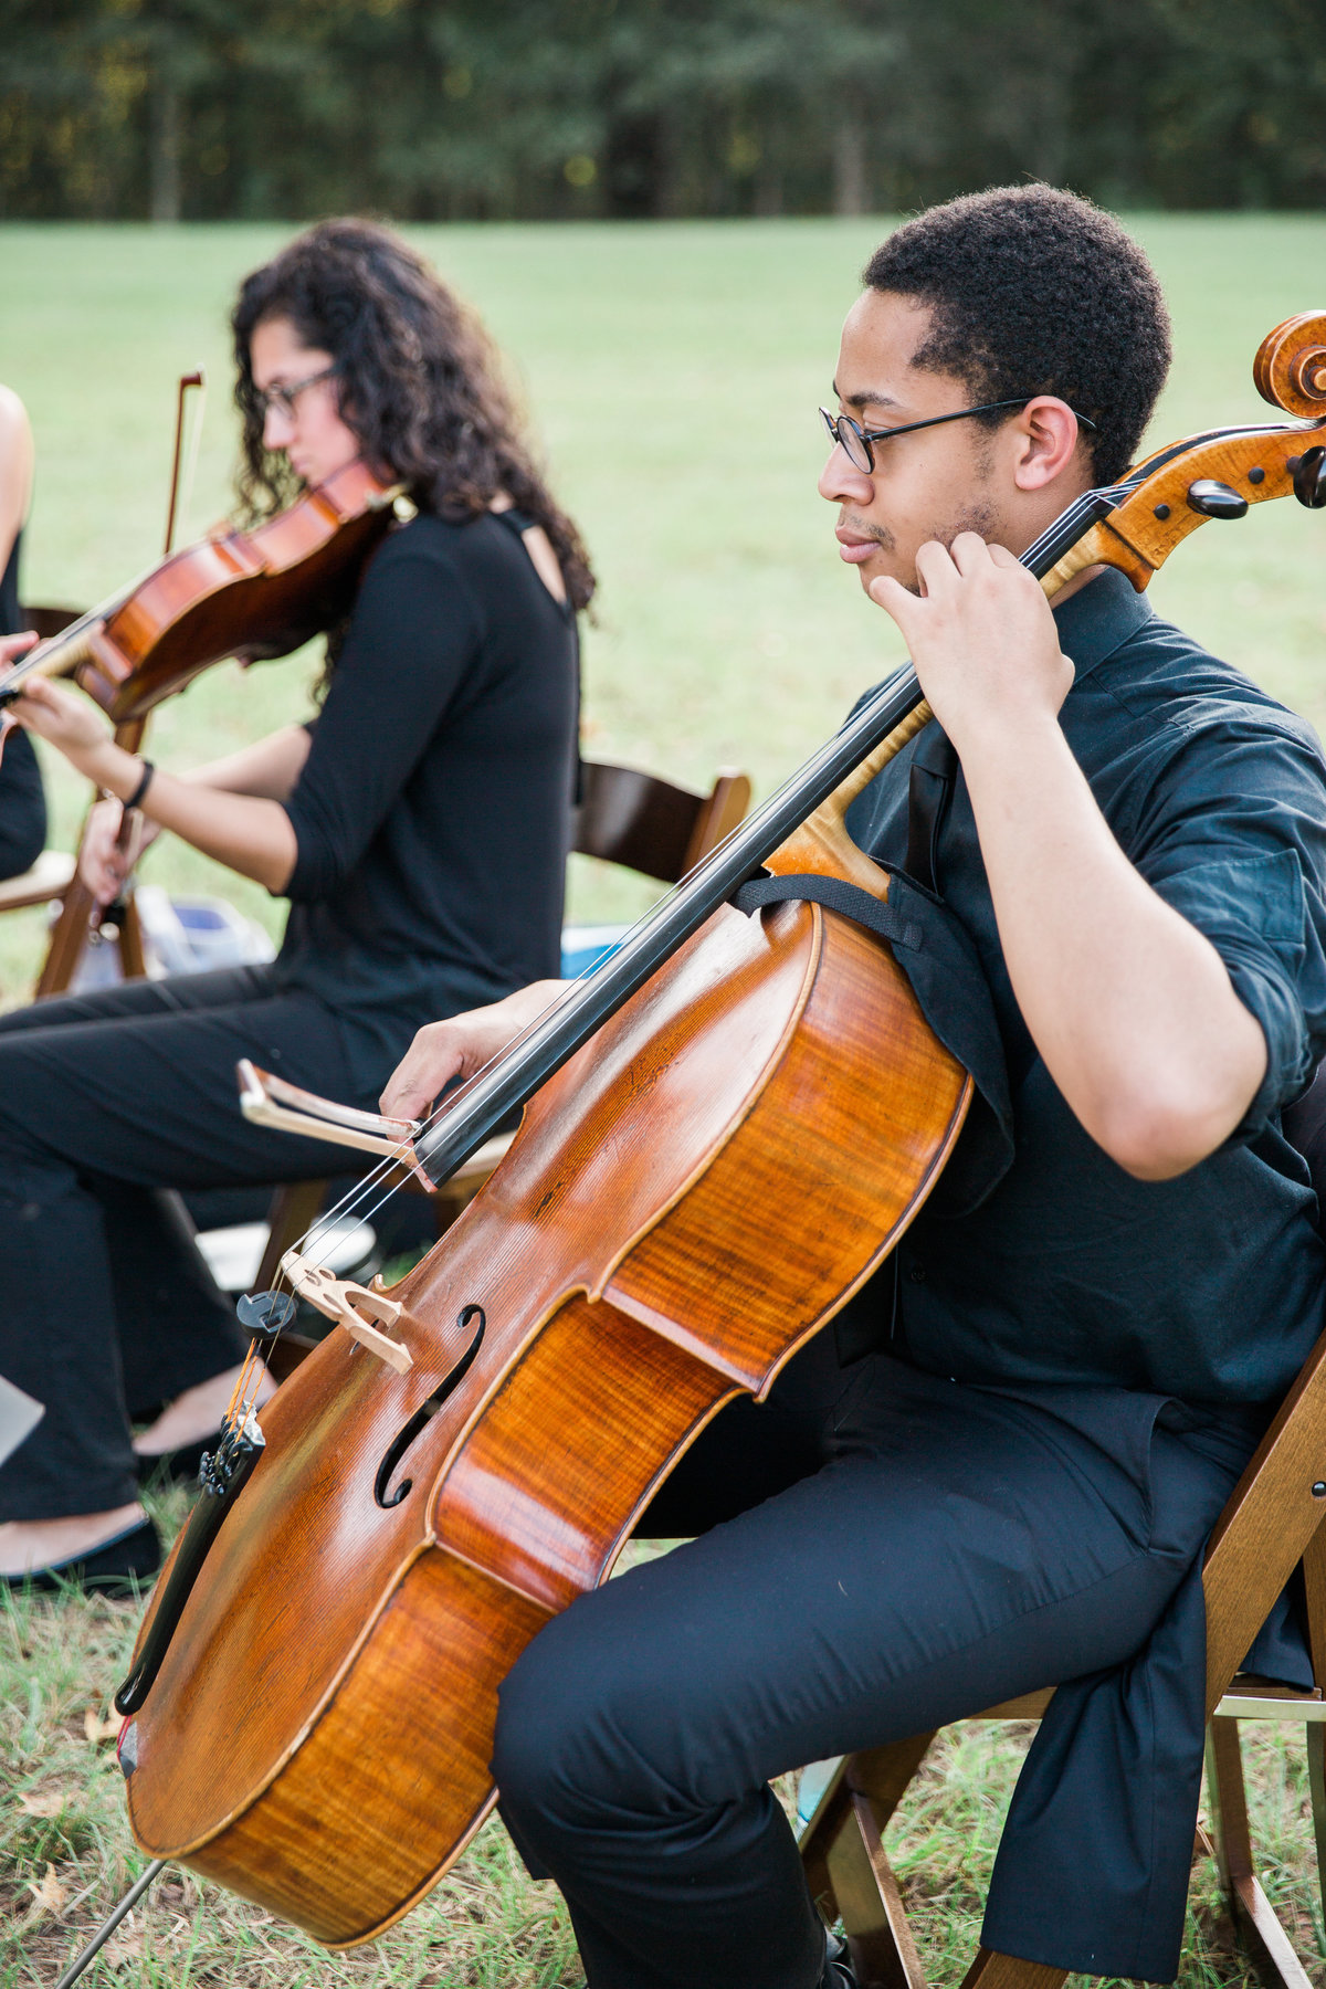
<svg viewBox="0 0 1326 1989"><path fill-rule="evenodd" d="M1171 1977L1201 1549L1322 1329L1280 1134L1326 1050L1320 748L1117 573L1052 613L1016 559L1137 452L1155 276L1020 187L920 215L865 282L819 487L936 724L849 821L974 941L1010 1144L682 1460L640 1530L700 1537L575 1601L503 1687L503 1814L592 1989L847 1983L769 1778L1044 1685L986 1945ZM549 993L421 1030L384 1110L421 1114ZM1300 1663L1268 1627L1256 1669Z"/></svg>

